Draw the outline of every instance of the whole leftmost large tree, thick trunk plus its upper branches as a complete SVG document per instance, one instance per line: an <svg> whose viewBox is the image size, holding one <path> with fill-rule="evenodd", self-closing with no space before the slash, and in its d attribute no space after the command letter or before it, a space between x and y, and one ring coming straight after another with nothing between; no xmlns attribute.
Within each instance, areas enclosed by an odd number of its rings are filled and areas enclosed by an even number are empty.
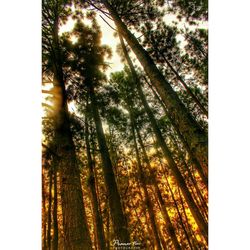
<svg viewBox="0 0 250 250"><path fill-rule="evenodd" d="M67 1L43 1L43 44L48 46L45 64L53 75L54 88L58 90L54 114L55 145L58 155L58 171L63 211L65 247L67 249L90 249L91 242L84 215L84 204L75 146L70 130L67 93L63 72L59 23L67 11Z"/></svg>

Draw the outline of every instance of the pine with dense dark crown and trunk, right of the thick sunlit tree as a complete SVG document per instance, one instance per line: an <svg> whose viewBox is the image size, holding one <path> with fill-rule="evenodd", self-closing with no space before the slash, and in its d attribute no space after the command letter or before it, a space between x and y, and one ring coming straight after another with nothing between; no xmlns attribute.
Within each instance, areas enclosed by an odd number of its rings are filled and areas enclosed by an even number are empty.
<svg viewBox="0 0 250 250"><path fill-rule="evenodd" d="M109 53L109 50L105 46L100 46L100 30L94 20L91 29L84 26L83 23L77 22L73 33L77 35L78 41L74 45L71 45L71 50L69 50L69 67L71 67L74 75L78 76L77 86L75 86L76 90L78 90L78 97L81 98L83 92L79 90L79 88L82 87L86 90L86 94L90 100L89 107L96 127L115 235L118 240L129 242L126 218L122 210L121 198L99 115L98 102L96 100L95 88L105 79L99 68L102 67L102 69L105 69L103 58ZM65 40L65 44L68 43L69 41ZM73 56L73 58L71 56Z"/></svg>

